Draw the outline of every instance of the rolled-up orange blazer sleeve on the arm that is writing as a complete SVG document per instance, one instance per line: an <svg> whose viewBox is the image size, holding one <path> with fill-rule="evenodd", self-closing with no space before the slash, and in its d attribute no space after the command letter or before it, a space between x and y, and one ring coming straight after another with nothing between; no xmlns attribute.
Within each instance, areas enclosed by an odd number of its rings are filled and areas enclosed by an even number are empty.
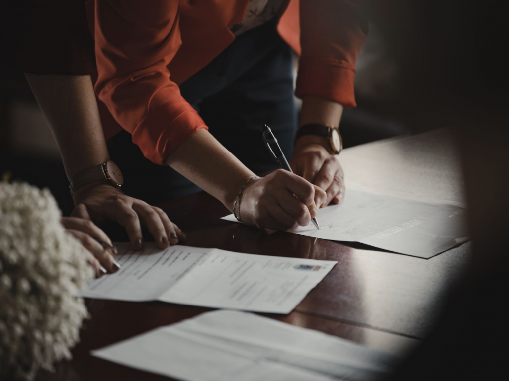
<svg viewBox="0 0 509 381"><path fill-rule="evenodd" d="M99 99L145 157L163 165L207 128L166 67L182 43L179 1L96 0L94 37Z"/></svg>

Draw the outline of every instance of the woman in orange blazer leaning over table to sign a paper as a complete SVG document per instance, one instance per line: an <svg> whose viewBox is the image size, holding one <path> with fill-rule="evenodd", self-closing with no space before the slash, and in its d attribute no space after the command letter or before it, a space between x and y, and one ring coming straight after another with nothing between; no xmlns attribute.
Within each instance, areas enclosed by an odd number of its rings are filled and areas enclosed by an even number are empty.
<svg viewBox="0 0 509 381"><path fill-rule="evenodd" d="M105 135L112 159L130 168L131 195L160 202L183 194L176 188L192 191L177 171L245 222L276 230L341 201L340 148L324 131L333 134L343 108L355 106L367 33L355 2L89 0L87 9ZM303 101L295 174L278 170L246 186L276 167L267 164L261 124L292 154L290 49L300 55L295 94Z"/></svg>

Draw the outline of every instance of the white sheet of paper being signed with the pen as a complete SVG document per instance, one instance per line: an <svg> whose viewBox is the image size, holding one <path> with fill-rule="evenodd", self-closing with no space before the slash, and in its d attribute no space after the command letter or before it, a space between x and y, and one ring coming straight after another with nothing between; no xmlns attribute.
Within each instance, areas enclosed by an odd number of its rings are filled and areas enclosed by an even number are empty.
<svg viewBox="0 0 509 381"><path fill-rule="evenodd" d="M465 212L447 204L348 190L342 204L318 211L320 230L309 223L292 232L430 258L469 240ZM233 214L223 219L237 222Z"/></svg>

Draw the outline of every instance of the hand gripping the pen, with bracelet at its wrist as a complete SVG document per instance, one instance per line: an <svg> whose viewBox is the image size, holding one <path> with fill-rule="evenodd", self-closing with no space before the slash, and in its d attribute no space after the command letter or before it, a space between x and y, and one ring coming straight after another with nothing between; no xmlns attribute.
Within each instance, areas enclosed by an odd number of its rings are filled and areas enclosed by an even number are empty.
<svg viewBox="0 0 509 381"><path fill-rule="evenodd" d="M326 199L327 194L321 188L294 173L278 169L251 181L236 210L243 222L288 231L307 225Z"/></svg>

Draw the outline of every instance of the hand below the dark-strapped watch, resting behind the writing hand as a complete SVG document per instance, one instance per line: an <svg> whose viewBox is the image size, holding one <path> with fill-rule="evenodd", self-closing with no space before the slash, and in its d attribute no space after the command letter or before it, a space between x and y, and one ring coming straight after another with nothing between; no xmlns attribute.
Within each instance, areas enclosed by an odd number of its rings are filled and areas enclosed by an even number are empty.
<svg viewBox="0 0 509 381"><path fill-rule="evenodd" d="M302 136L296 141L290 161L296 174L327 193L327 199L321 207L327 206L331 201L336 204L342 202L346 192L343 168L337 155L331 155L325 144L325 139L322 142L316 136Z"/></svg>

